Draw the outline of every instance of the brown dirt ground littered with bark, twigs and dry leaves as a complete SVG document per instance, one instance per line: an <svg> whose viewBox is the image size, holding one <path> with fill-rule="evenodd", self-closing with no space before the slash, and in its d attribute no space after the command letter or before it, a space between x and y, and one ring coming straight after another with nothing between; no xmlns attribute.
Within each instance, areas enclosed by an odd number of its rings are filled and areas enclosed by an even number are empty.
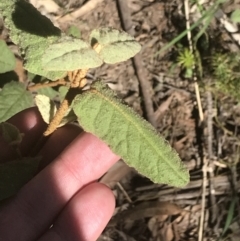
<svg viewBox="0 0 240 241"><path fill-rule="evenodd" d="M237 38L224 22L240 8L237 1L221 4L205 30L211 49L239 51ZM192 24L201 17L197 3L208 9L214 1L30 2L62 30L76 26L82 38L94 28L112 26L141 43L134 60L103 65L88 78L101 78L117 91L169 141L190 170L190 183L178 189L153 184L117 163L101 179L113 189L116 210L99 241L240 240L239 102L216 91L207 70L201 79L184 77L177 64L177 44L159 53L186 29L186 6ZM192 34L202 28L200 24ZM188 47L189 39L185 36L178 44ZM208 69L207 60L201 61Z"/></svg>

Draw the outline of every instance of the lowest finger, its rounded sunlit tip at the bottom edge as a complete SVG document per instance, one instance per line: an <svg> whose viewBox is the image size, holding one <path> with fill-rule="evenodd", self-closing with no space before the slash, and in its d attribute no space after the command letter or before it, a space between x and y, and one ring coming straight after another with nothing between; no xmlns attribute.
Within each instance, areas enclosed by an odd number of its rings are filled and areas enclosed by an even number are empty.
<svg viewBox="0 0 240 241"><path fill-rule="evenodd" d="M110 220L114 206L109 188L90 184L73 197L39 241L95 241Z"/></svg>

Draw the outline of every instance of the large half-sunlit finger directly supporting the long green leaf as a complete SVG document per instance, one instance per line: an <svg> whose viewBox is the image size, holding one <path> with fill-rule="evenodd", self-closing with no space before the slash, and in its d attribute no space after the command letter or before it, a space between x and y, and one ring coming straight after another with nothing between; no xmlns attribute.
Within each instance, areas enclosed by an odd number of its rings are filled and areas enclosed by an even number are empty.
<svg viewBox="0 0 240 241"><path fill-rule="evenodd" d="M101 140L81 134L2 210L1 237L35 240L80 188L101 177L118 159Z"/></svg>

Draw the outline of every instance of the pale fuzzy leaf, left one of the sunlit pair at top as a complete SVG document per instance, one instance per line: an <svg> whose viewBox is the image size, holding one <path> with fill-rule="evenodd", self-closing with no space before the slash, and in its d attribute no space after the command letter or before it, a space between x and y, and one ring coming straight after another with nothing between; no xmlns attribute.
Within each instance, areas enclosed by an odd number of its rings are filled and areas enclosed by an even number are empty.
<svg viewBox="0 0 240 241"><path fill-rule="evenodd" d="M43 68L54 71L96 68L102 63L89 44L70 36L52 44L42 57Z"/></svg>

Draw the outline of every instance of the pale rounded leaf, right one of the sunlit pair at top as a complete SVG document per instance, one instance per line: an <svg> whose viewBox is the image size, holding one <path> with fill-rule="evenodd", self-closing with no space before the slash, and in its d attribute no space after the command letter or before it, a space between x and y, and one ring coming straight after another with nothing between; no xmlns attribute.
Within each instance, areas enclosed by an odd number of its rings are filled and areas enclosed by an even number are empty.
<svg viewBox="0 0 240 241"><path fill-rule="evenodd" d="M113 28L93 30L90 42L92 46L100 45L99 56L108 64L128 60L141 50L141 45L131 35Z"/></svg>

